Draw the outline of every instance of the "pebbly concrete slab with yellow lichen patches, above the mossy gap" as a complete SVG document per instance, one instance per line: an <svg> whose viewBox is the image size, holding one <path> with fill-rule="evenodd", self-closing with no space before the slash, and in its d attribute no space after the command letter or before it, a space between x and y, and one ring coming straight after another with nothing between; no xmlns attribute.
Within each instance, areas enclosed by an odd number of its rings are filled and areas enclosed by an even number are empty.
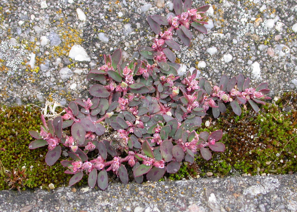
<svg viewBox="0 0 297 212"><path fill-rule="evenodd" d="M157 5L158 3L158 6ZM268 82L271 93L296 90L296 12L290 1L193 1L211 4L208 34L192 30L192 44L176 52L187 69L218 84L222 74L239 73L251 84ZM123 50L139 58L154 34L146 16L165 16L171 1L1 1L0 99L7 105L58 100L66 105L89 97L89 69L102 65L103 54ZM69 58L80 45L89 61ZM182 44L182 43L181 43ZM73 57L72 57L73 58Z"/></svg>

